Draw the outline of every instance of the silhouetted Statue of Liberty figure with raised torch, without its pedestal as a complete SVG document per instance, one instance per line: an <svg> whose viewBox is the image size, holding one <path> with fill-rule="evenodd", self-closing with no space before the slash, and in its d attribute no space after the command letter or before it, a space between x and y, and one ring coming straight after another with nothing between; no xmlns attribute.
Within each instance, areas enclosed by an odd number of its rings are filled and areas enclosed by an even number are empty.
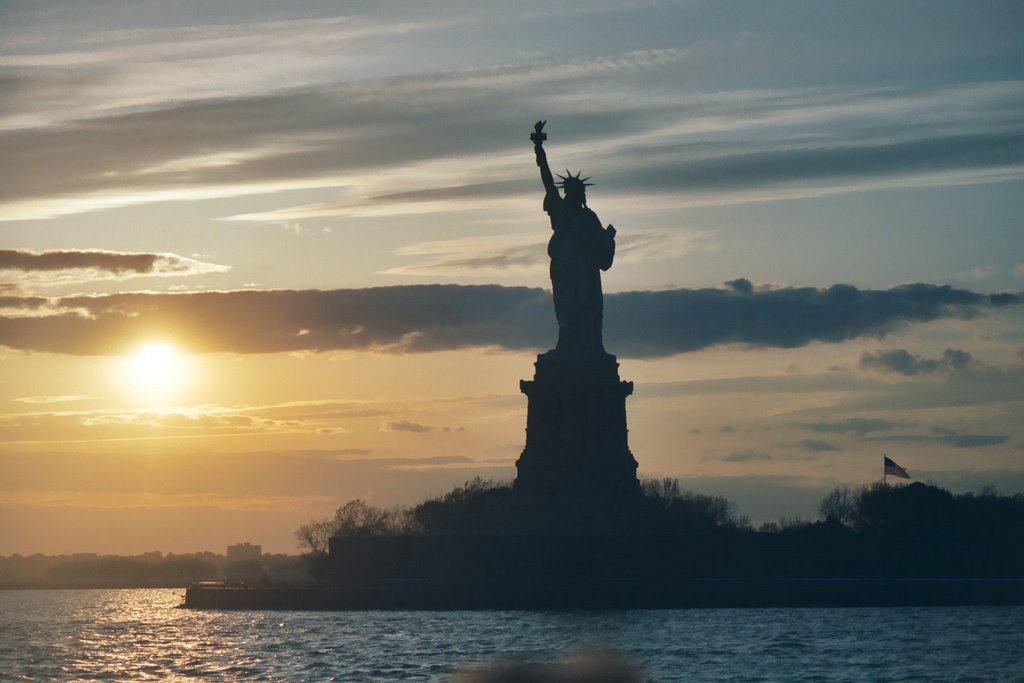
<svg viewBox="0 0 1024 683"><path fill-rule="evenodd" d="M558 343L549 357L605 357L601 339L603 297L601 270L611 267L615 256L615 228L601 226L597 214L587 206L587 182L581 173L559 174L556 184L548 167L544 141L546 121L538 121L529 139L544 182L544 210L551 217L551 288L558 321ZM559 195L561 186L564 197Z"/></svg>

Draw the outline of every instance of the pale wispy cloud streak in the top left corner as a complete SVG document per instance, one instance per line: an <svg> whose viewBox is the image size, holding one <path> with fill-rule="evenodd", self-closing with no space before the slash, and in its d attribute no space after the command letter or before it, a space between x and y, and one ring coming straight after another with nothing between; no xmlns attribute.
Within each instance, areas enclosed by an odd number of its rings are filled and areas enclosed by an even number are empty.
<svg viewBox="0 0 1024 683"><path fill-rule="evenodd" d="M29 27L22 27L16 37L5 36L10 40L4 42L8 49L0 55L0 70L11 76L0 90L20 96L0 111L0 128L239 96L276 89L282 83L352 78L360 69L384 68L386 53L372 49L379 41L400 43L411 35L430 35L465 22L357 15L254 22L246 16L220 24L66 31L62 41L53 41L52 25L59 22L59 13L48 18L34 36ZM29 36L34 40L19 50L18 43ZM40 49L47 44L49 50Z"/></svg>

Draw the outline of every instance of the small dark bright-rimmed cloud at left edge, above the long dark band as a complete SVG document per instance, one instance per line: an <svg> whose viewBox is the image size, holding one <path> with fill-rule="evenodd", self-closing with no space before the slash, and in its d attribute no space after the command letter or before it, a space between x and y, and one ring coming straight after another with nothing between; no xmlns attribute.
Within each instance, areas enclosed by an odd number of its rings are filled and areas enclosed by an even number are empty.
<svg viewBox="0 0 1024 683"><path fill-rule="evenodd" d="M100 250L0 249L0 278L16 274L22 286L61 285L144 275L187 276L229 268L177 254Z"/></svg>

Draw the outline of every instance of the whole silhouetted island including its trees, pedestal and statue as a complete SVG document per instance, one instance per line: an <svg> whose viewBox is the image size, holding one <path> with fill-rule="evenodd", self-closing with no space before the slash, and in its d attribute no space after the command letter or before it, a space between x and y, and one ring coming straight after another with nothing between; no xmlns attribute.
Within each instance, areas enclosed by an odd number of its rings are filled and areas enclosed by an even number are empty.
<svg viewBox="0 0 1024 683"><path fill-rule="evenodd" d="M755 530L724 499L641 481L627 427L634 385L602 335L601 272L616 229L589 208L590 178L566 170L555 180L544 128L539 121L530 139L551 223L557 340L519 383L526 436L514 482L468 482L402 519L352 502L327 547L314 548L307 581L198 583L184 606L1024 604L1024 499L984 507L920 483L865 486L823 507L824 521ZM886 512L871 517L876 509ZM993 515L1012 523L993 526Z"/></svg>

